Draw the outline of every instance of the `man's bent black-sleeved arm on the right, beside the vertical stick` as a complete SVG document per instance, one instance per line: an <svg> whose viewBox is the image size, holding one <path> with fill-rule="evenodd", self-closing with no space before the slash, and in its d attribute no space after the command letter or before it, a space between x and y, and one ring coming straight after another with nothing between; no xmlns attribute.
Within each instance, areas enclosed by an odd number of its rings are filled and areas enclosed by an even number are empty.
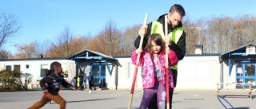
<svg viewBox="0 0 256 109"><path fill-rule="evenodd" d="M183 31L177 44L175 44L174 41L170 41L169 48L175 52L178 56L178 60L182 60L186 54L186 33Z"/></svg>

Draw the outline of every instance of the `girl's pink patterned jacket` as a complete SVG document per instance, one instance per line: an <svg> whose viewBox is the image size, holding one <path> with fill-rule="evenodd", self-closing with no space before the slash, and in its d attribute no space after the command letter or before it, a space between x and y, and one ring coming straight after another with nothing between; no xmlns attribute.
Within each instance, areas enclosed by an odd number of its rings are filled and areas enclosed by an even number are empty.
<svg viewBox="0 0 256 109"><path fill-rule="evenodd" d="M160 53L159 59L161 64L161 72L162 72L162 82L164 86L166 87L166 53L162 52ZM174 51L170 50L170 53L168 54L169 59L169 66L174 66L178 64L178 57L174 53ZM136 64L137 60L137 54L134 51L131 55L131 60L133 64ZM142 74L142 84L143 89L145 88L154 88L154 64L153 60L150 56L150 53L142 51L140 60L139 60L139 66L143 67L143 74ZM174 88L174 82L173 82L173 74L169 68L169 88Z"/></svg>

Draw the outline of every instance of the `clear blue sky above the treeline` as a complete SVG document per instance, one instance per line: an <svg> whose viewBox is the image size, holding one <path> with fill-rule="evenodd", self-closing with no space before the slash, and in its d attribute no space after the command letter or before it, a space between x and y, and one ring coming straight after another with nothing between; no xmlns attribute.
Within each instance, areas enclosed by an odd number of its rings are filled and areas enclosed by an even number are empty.
<svg viewBox="0 0 256 109"><path fill-rule="evenodd" d="M119 29L142 24L166 14L174 3L181 4L192 20L211 15L256 15L255 0L0 0L0 12L16 14L22 21L22 34L4 45L15 53L14 44L54 41L65 27L74 35L96 35L112 18Z"/></svg>

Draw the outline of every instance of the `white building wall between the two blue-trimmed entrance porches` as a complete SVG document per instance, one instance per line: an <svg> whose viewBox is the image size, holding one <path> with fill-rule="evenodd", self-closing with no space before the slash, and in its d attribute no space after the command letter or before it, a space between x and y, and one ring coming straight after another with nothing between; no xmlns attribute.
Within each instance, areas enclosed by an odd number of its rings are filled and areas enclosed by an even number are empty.
<svg viewBox="0 0 256 109"><path fill-rule="evenodd" d="M186 55L178 62L177 88L181 90L216 90L220 82L219 54ZM116 58L122 67L118 67L118 89L130 90L134 78L135 65L130 57ZM114 76L106 76L108 88L114 88ZM142 68L138 68L135 89L142 89Z"/></svg>

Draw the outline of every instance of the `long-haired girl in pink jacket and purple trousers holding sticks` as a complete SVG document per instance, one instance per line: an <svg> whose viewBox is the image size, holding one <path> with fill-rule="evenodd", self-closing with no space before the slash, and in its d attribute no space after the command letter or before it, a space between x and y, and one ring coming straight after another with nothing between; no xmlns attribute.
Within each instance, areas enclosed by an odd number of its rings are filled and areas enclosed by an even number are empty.
<svg viewBox="0 0 256 109"><path fill-rule="evenodd" d="M169 44L170 39L166 40ZM158 100L158 109L164 109L166 106L166 66L165 56L168 53L169 65L178 64L178 57L174 51L166 47L165 42L158 33L152 34L146 45L147 51L142 49L135 50L131 59L136 64L137 55L141 53L139 65L143 66L142 84L143 84L143 96L140 104L140 109L146 109L150 103L150 99L156 93ZM174 88L172 72L169 67L169 88Z"/></svg>

